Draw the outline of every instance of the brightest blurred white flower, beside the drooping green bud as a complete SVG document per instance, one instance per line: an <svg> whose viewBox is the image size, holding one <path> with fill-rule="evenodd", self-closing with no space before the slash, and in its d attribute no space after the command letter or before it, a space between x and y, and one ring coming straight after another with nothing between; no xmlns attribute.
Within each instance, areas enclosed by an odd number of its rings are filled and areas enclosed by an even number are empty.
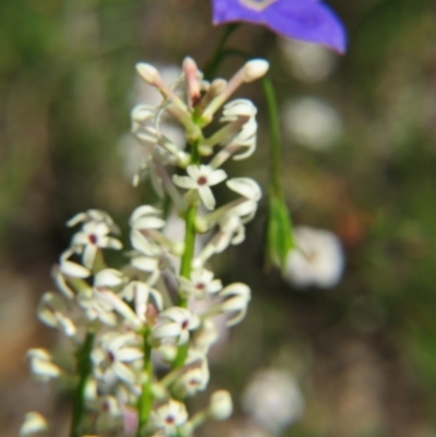
<svg viewBox="0 0 436 437"><path fill-rule="evenodd" d="M335 287L341 279L344 255L339 239L329 231L294 229L296 247L287 259L284 279L295 287Z"/></svg>

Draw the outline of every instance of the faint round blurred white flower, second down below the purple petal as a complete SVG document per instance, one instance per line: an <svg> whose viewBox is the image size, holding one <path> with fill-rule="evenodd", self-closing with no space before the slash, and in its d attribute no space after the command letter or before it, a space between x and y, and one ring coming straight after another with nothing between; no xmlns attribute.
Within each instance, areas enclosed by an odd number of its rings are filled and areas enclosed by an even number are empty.
<svg viewBox="0 0 436 437"><path fill-rule="evenodd" d="M332 146L343 133L339 113L314 97L288 102L282 111L282 121L290 138L314 150Z"/></svg>

